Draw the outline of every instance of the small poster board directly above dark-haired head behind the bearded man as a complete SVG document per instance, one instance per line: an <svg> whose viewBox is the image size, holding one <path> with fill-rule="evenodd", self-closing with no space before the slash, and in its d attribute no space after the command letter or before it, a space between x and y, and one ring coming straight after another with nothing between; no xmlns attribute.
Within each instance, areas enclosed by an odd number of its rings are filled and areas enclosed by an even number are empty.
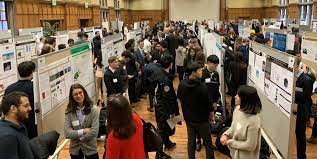
<svg viewBox="0 0 317 159"><path fill-rule="evenodd" d="M24 61L31 61L37 57L36 42L33 35L18 36L14 38L17 65Z"/></svg>

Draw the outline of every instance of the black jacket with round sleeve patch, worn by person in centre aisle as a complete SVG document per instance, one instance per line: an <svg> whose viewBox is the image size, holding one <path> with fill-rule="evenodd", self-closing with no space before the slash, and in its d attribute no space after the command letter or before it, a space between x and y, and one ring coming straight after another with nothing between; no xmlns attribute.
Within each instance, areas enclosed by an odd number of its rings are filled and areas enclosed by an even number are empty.
<svg viewBox="0 0 317 159"><path fill-rule="evenodd" d="M177 97L173 87L173 81L169 77L169 73L163 68L157 75L157 91L155 106L155 116L158 127L169 128L166 120L170 118L170 115L179 115L179 108L177 103Z"/></svg>

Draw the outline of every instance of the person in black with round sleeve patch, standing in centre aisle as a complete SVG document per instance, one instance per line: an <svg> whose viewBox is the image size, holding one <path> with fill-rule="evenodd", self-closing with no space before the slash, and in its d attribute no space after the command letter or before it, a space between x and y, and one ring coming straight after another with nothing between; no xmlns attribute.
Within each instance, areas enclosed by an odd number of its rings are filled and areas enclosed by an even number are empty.
<svg viewBox="0 0 317 159"><path fill-rule="evenodd" d="M158 127L158 131L163 139L165 149L172 149L176 146L169 137L174 135L175 128L171 129L167 123L167 120L171 116L179 115L177 97L173 87L173 82L171 80L169 71L172 67L173 57L171 55L166 55L161 58L161 71L156 75L157 86L156 86L156 100L155 105L155 117ZM157 153L158 156L161 155L160 152Z"/></svg>

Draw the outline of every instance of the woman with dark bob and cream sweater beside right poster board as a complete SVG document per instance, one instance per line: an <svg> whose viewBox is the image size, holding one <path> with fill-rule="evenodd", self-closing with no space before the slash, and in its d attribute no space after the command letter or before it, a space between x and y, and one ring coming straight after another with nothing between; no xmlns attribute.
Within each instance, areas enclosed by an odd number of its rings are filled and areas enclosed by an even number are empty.
<svg viewBox="0 0 317 159"><path fill-rule="evenodd" d="M231 127L220 141L227 145L233 159L257 159L261 147L262 104L254 87L243 85L235 96L236 108Z"/></svg>

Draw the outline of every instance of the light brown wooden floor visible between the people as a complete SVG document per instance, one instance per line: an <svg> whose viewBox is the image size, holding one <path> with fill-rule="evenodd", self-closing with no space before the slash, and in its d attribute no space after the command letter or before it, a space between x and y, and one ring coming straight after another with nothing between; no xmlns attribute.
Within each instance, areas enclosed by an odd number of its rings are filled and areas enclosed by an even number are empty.
<svg viewBox="0 0 317 159"><path fill-rule="evenodd" d="M177 88L178 81L175 80L174 85ZM135 111L142 116L142 118L146 121L151 122L156 126L155 123L155 115L154 113L148 112L146 110L148 106L148 99L143 98L141 101L136 105ZM311 134L311 129L308 128L307 130L307 136ZM173 142L176 142L176 148L167 151L166 153L171 155L173 159L187 159L187 132L186 132L186 125L183 122L183 125L177 126L176 133L174 136L171 137L171 140ZM213 137L213 142L215 141L215 138ZM103 143L98 143L98 152L100 159L102 158L102 155L104 153ZM59 159L68 159L69 157L69 149L68 145L64 147L64 149L61 151ZM205 159L205 150L202 149L200 152L196 152L196 158L197 159ZM215 151L215 157L216 159L229 159L229 157L226 157L225 155L219 153L218 151ZM271 159L275 159L276 157L274 155L271 156ZM292 159L296 159L296 152L294 152L294 156L292 156ZM307 143L307 159L316 159L317 158L317 145L312 145ZM150 153L150 159L155 159L155 153Z"/></svg>

